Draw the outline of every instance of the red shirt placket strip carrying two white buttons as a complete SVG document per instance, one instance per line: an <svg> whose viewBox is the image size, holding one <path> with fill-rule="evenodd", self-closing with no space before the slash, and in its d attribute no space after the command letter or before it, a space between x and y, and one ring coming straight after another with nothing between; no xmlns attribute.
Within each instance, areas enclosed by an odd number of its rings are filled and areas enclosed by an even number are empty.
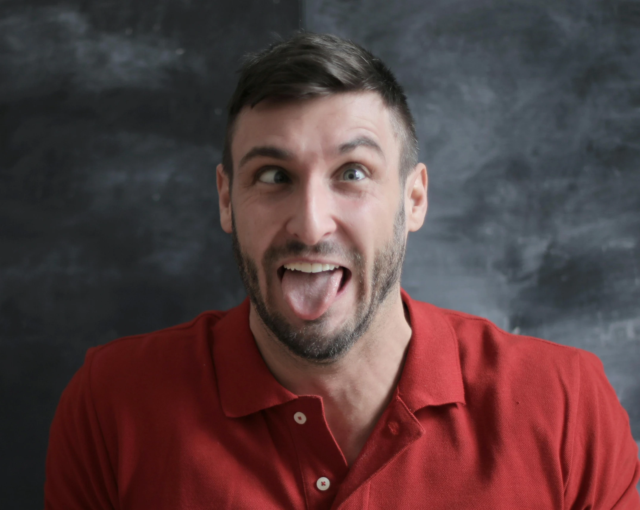
<svg viewBox="0 0 640 510"><path fill-rule="evenodd" d="M307 507L329 509L348 466L324 418L319 397L299 397L282 409L300 465Z"/></svg>

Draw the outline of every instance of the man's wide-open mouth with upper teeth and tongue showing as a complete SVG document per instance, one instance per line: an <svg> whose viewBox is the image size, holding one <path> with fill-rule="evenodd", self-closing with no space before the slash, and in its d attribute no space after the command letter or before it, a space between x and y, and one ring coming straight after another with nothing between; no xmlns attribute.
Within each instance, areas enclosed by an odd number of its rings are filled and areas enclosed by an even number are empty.
<svg viewBox="0 0 640 510"><path fill-rule="evenodd" d="M312 321L344 298L352 272L337 261L296 258L284 261L277 274L287 308L300 320Z"/></svg>

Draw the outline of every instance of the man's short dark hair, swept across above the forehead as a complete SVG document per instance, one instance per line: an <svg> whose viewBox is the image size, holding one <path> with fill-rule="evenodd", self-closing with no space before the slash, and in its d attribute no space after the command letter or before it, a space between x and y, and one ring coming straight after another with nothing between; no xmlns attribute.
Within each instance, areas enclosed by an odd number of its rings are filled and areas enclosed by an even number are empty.
<svg viewBox="0 0 640 510"><path fill-rule="evenodd" d="M222 165L233 179L231 140L244 106L253 108L265 99L291 101L339 92L377 92L392 115L401 140L401 182L418 163L415 121L402 86L380 58L351 40L335 35L301 31L250 54L240 69L236 90L228 104Z"/></svg>

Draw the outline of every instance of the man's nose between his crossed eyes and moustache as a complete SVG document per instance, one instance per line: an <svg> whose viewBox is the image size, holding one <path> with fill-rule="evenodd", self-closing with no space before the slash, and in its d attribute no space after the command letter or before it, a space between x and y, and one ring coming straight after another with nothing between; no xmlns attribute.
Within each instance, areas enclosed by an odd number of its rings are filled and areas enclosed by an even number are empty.
<svg viewBox="0 0 640 510"><path fill-rule="evenodd" d="M292 197L287 233L313 246L336 229L332 192L321 179L309 179Z"/></svg>

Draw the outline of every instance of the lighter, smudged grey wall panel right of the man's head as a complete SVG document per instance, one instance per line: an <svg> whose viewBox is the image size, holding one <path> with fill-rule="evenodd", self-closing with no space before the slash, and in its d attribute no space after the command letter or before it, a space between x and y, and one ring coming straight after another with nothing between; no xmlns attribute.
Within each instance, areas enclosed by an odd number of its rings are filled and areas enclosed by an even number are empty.
<svg viewBox="0 0 640 510"><path fill-rule="evenodd" d="M305 5L417 117L429 213L404 287L595 352L640 440L640 1Z"/></svg>

